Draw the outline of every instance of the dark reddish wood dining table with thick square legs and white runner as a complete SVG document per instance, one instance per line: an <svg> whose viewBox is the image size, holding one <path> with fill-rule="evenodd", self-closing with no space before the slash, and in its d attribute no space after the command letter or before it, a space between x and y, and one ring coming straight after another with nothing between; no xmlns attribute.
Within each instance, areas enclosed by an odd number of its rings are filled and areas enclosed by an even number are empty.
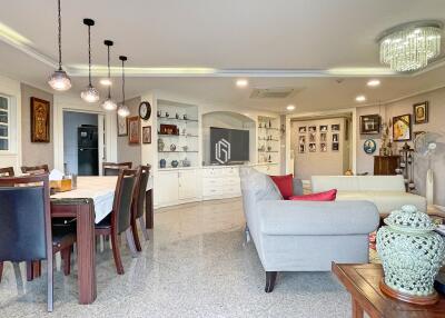
<svg viewBox="0 0 445 318"><path fill-rule="evenodd" d="M92 304L97 297L95 223L112 210L118 177L77 177L76 189L51 195L52 218L76 218L79 304ZM154 227L152 177L146 188L146 228ZM41 274L39 261L28 264L28 280Z"/></svg>

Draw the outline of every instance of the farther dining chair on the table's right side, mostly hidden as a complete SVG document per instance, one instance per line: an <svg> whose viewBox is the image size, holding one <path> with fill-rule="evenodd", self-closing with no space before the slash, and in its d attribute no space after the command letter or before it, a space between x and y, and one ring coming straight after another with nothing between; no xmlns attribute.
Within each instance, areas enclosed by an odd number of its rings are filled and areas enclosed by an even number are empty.
<svg viewBox="0 0 445 318"><path fill-rule="evenodd" d="M144 223L144 211L145 211L144 203L146 199L147 182L150 173L150 168L151 168L150 166L139 166L138 168L139 179L136 185L135 197L132 198L132 205L131 205L131 231L135 239L135 246L138 251L141 251L142 247L139 240L137 220L139 220L144 238L146 240L149 239L148 230Z"/></svg>

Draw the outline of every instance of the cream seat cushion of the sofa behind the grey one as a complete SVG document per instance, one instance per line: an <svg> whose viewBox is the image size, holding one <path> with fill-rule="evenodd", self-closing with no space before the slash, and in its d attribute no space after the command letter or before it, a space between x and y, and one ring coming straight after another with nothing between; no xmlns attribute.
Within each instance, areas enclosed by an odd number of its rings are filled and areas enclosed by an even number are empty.
<svg viewBox="0 0 445 318"><path fill-rule="evenodd" d="M400 191L338 191L337 201L367 200L377 206L380 213L398 210L404 205L413 205L419 211L426 212L424 197Z"/></svg>

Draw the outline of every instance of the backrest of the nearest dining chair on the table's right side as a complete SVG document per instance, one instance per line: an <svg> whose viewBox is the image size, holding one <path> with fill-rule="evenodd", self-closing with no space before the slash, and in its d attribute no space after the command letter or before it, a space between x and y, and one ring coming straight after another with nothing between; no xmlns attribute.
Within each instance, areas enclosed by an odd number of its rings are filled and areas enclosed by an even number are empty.
<svg viewBox="0 0 445 318"><path fill-rule="evenodd" d="M111 222L118 233L130 227L131 201L135 195L135 186L138 182L137 179L137 170L122 169L119 172L111 215Z"/></svg>

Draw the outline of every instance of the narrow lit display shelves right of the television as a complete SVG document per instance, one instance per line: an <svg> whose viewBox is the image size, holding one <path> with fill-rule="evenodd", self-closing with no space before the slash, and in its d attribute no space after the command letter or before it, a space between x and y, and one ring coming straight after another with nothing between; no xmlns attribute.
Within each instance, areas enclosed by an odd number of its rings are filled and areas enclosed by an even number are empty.
<svg viewBox="0 0 445 318"><path fill-rule="evenodd" d="M258 117L258 163L279 161L279 119Z"/></svg>

